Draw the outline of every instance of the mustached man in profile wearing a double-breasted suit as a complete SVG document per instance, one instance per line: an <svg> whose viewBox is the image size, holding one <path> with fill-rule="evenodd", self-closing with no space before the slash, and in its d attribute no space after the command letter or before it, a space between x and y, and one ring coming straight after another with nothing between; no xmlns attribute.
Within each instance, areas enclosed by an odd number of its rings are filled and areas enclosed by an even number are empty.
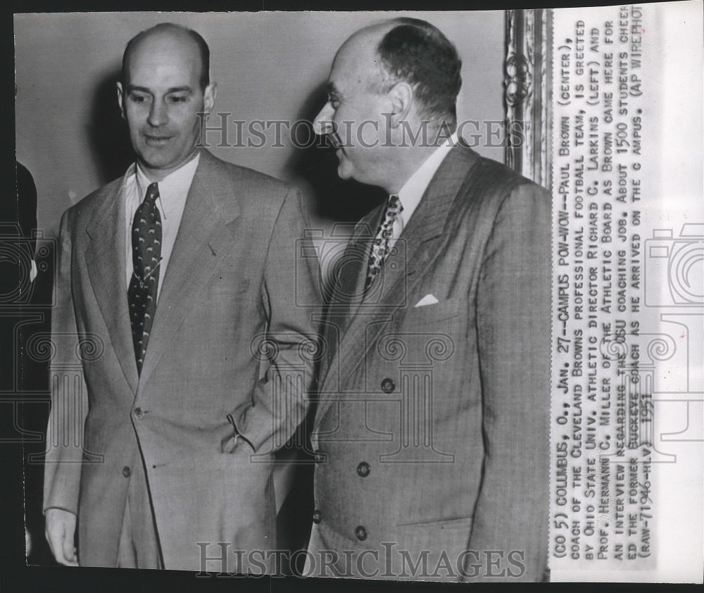
<svg viewBox="0 0 704 593"><path fill-rule="evenodd" d="M315 125L339 175L389 199L333 266L310 575L546 572L551 199L456 137L460 85L453 44L415 19L332 64Z"/></svg>

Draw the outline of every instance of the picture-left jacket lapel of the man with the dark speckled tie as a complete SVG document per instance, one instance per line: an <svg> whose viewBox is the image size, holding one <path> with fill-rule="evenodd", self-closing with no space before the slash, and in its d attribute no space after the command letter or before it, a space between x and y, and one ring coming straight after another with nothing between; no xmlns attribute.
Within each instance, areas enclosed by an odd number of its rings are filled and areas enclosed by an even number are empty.
<svg viewBox="0 0 704 593"><path fill-rule="evenodd" d="M115 182L106 188L103 205L96 211L86 227L91 238L86 252L86 267L100 311L108 327L110 341L120 361L122 373L137 392L137 363L134 361L134 345L130 326L130 311L127 306L125 285L125 204L122 199L123 182ZM115 291L115 287L122 287Z"/></svg>

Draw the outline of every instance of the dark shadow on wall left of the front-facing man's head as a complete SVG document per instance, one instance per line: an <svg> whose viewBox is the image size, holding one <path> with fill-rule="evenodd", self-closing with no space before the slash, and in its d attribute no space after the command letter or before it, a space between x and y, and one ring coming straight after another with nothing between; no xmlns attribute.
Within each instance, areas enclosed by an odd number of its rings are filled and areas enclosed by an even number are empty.
<svg viewBox="0 0 704 593"><path fill-rule="evenodd" d="M120 115L115 83L120 69L110 70L96 86L87 125L87 137L93 155L93 167L100 185L125 174L134 161L127 123Z"/></svg>

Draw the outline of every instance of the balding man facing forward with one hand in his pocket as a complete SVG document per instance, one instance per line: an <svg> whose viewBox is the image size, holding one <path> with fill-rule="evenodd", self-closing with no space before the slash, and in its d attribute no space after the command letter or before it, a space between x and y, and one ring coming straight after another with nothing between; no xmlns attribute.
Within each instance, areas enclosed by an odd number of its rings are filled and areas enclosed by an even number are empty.
<svg viewBox="0 0 704 593"><path fill-rule="evenodd" d="M135 162L61 220L44 509L62 564L272 568L272 454L306 413L316 272L296 261L300 194L199 148L208 62L178 25L127 44Z"/></svg>

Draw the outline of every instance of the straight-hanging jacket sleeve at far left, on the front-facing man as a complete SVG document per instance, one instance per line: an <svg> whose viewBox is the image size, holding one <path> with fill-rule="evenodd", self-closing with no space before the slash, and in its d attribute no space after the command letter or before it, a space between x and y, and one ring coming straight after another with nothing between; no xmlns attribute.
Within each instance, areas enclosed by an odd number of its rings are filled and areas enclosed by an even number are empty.
<svg viewBox="0 0 704 593"><path fill-rule="evenodd" d="M46 429L43 506L44 511L58 507L77 514L88 396L80 365L80 342L71 292L69 218L67 211L61 218L56 246L56 305L51 313L54 356L49 368L51 413Z"/></svg>

